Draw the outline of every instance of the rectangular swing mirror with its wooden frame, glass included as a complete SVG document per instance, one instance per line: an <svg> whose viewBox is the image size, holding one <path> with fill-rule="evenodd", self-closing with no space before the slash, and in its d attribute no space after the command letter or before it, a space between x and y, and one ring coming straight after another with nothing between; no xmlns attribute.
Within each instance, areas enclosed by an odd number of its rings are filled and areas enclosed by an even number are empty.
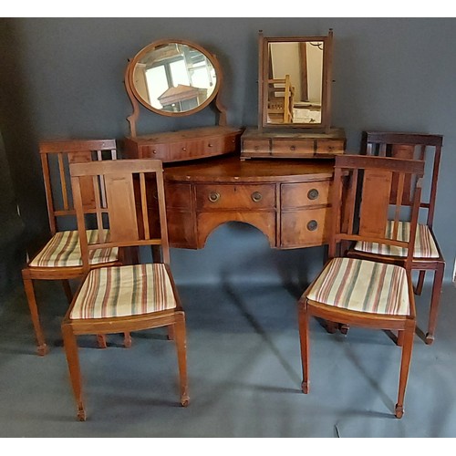
<svg viewBox="0 0 456 456"><path fill-rule="evenodd" d="M259 36L258 128L331 127L332 29L327 36Z"/></svg>

